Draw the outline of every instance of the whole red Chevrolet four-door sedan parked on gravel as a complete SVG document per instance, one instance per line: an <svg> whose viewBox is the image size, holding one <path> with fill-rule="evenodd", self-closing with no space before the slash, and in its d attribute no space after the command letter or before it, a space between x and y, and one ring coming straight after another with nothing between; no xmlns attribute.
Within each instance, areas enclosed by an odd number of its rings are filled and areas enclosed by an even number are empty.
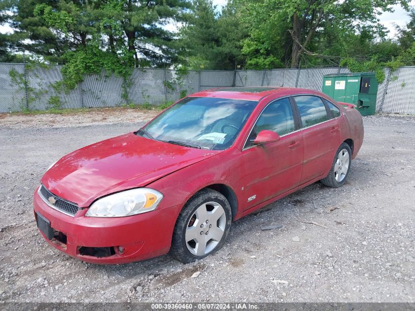
<svg viewBox="0 0 415 311"><path fill-rule="evenodd" d="M306 89L202 91L144 127L53 164L33 198L37 226L65 254L125 263L219 250L231 223L321 181L344 184L363 141L353 105Z"/></svg>

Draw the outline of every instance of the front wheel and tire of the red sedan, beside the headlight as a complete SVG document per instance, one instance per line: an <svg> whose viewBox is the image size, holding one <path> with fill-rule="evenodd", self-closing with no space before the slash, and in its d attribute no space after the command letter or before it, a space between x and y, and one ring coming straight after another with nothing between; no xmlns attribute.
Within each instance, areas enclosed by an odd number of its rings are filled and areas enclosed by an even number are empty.
<svg viewBox="0 0 415 311"><path fill-rule="evenodd" d="M231 222L229 202L221 193L211 189L199 191L177 218L170 254L188 263L215 253L223 246Z"/></svg>

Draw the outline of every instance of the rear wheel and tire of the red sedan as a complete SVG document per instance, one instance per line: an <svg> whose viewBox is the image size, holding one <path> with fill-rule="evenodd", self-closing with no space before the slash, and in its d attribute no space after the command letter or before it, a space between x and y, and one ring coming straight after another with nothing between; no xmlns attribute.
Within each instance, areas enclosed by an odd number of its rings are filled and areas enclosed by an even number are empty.
<svg viewBox="0 0 415 311"><path fill-rule="evenodd" d="M347 155L347 160L345 155ZM337 149L336 155L334 156L332 168L329 172L329 175L327 175L326 178L323 178L321 183L332 188L343 186L347 176L349 175L351 164L352 150L347 143L343 142Z"/></svg>

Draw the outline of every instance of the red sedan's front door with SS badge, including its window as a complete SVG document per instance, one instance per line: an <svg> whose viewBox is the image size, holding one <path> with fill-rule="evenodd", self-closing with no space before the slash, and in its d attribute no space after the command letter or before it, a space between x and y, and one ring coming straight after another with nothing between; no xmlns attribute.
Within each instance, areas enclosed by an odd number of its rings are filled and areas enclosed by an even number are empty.
<svg viewBox="0 0 415 311"><path fill-rule="evenodd" d="M281 139L263 145L253 140L261 130L279 134ZM288 98L271 102L260 114L242 150L245 171L245 209L287 192L300 183L303 137L293 117Z"/></svg>

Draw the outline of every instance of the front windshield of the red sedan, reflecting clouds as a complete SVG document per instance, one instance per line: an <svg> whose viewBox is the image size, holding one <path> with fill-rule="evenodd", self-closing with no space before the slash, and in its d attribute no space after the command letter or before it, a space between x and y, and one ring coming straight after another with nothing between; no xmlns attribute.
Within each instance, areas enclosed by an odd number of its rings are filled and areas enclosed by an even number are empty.
<svg viewBox="0 0 415 311"><path fill-rule="evenodd" d="M233 144L257 104L249 100L187 97L137 134L194 148L224 150Z"/></svg>

